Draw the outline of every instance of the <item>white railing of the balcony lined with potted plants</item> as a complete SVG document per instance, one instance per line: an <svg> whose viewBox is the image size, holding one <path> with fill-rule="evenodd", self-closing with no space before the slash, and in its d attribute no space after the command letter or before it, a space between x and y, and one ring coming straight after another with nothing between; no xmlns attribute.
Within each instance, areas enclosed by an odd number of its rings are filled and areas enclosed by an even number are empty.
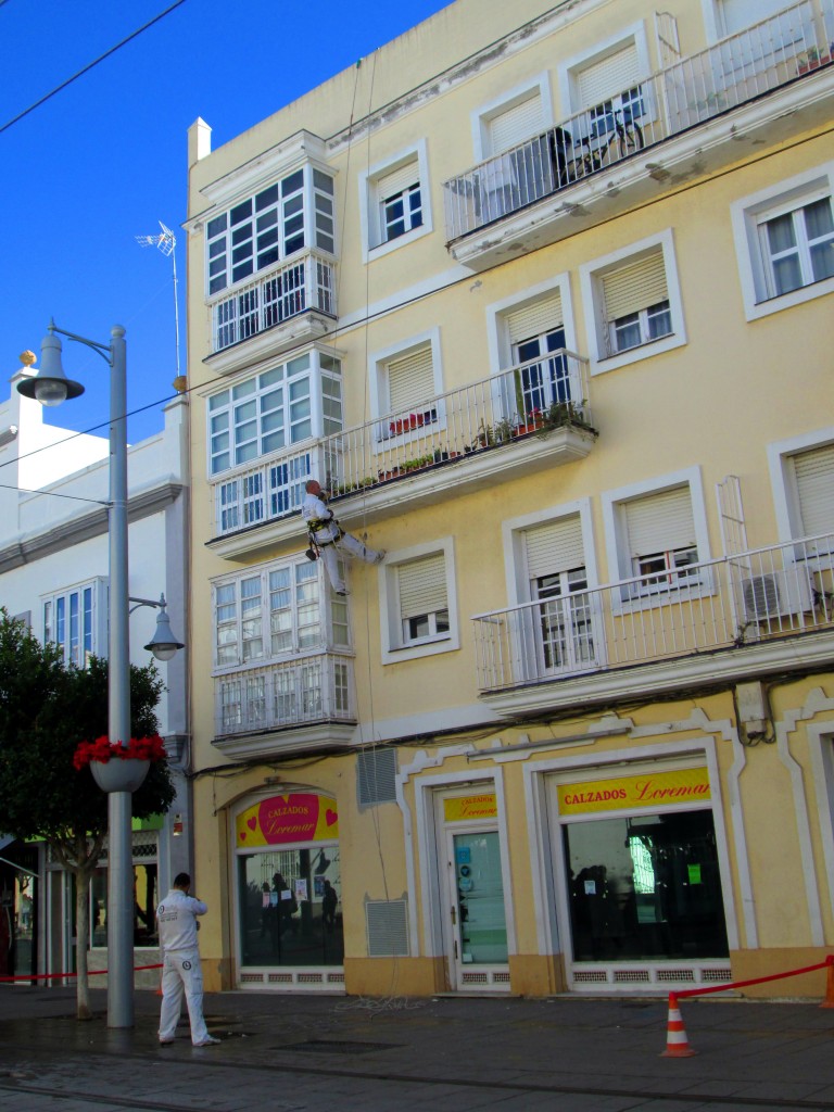
<svg viewBox="0 0 834 1112"><path fill-rule="evenodd" d="M329 476L335 494L350 494L559 428L596 435L587 397L587 359L550 351L218 481L215 535L296 513L311 476Z"/></svg>

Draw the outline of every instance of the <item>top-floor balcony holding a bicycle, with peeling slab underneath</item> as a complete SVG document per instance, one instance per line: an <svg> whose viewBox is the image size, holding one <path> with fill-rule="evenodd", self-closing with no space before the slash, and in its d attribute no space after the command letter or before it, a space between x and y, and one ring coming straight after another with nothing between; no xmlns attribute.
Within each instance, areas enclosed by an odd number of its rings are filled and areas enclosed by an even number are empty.
<svg viewBox="0 0 834 1112"><path fill-rule="evenodd" d="M451 178L451 255L486 268L715 172L753 143L824 123L832 48L834 0L803 0Z"/></svg>

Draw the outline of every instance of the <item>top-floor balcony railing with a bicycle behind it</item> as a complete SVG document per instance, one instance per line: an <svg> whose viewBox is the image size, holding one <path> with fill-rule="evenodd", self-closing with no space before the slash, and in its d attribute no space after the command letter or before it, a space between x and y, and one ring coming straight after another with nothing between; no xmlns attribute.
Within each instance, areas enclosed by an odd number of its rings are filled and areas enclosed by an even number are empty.
<svg viewBox="0 0 834 1112"><path fill-rule="evenodd" d="M458 239L834 58L834 0L803 0L444 182Z"/></svg>

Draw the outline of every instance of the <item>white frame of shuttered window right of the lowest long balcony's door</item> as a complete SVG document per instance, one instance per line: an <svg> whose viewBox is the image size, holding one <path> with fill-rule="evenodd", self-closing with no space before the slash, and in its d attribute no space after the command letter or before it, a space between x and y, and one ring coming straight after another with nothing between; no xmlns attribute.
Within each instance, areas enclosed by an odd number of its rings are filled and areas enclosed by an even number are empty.
<svg viewBox="0 0 834 1112"><path fill-rule="evenodd" d="M695 527L695 545L698 552L697 563L705 564L712 559L701 468L698 466L686 467L679 471L671 471L668 475L644 479L641 483L632 483L616 490L604 490L600 495L605 545L608 553L608 579L610 583L615 584L623 579L635 578L625 527L625 504L639 498L651 497L652 495L663 494L666 490L673 490L678 487L687 487L689 492L692 518ZM707 568L704 568L697 577L693 577L689 583L696 588L698 596L714 594L715 592L714 577ZM624 613L631 609L665 606L668 604L671 597L677 603L686 599L688 595L688 586L685 585L675 588L674 593L672 593L659 586L655 587L649 584L645 588L639 584L629 584L622 590L612 592L612 608L617 613Z"/></svg>

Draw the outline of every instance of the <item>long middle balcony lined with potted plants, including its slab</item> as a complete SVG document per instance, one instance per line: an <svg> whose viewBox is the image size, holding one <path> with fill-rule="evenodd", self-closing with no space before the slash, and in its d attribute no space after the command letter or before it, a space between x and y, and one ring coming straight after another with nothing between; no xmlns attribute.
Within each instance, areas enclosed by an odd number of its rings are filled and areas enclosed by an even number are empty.
<svg viewBox="0 0 834 1112"><path fill-rule="evenodd" d="M287 449L214 484L209 544L237 558L298 533L310 477L327 481L349 526L354 508L368 523L395 502L404 512L450 497L461 483L478 489L497 476L583 459L597 437L587 398L587 359L563 349Z"/></svg>

